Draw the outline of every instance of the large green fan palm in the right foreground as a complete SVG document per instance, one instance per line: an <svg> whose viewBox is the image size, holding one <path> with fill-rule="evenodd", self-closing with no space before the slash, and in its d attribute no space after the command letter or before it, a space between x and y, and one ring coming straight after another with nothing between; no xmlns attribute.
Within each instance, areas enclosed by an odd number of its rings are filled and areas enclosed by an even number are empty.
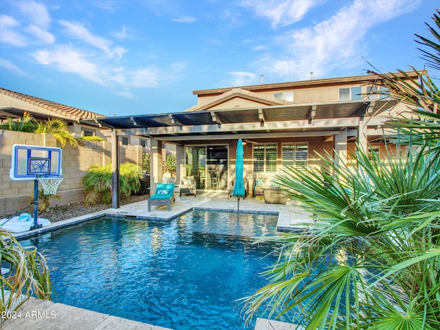
<svg viewBox="0 0 440 330"><path fill-rule="evenodd" d="M438 13L434 21L440 28ZM439 43L417 37L438 69ZM306 329L440 329L439 92L427 72L410 83L379 75L419 117L391 122L399 153L386 162L358 148L357 166L320 156L334 175L289 168L277 176L316 221L271 238L282 244L279 259L265 272L269 283L245 298L248 321L266 309Z"/></svg>

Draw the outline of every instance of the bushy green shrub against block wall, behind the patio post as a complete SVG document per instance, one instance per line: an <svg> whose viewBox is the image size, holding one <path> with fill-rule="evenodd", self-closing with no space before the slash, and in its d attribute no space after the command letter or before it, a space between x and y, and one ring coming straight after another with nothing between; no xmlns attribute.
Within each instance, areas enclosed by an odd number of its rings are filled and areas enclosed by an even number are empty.
<svg viewBox="0 0 440 330"><path fill-rule="evenodd" d="M119 188L122 198L139 191L143 173L139 166L126 162L120 166ZM85 188L84 203L93 205L98 202L111 202L111 164L91 165L83 177Z"/></svg>

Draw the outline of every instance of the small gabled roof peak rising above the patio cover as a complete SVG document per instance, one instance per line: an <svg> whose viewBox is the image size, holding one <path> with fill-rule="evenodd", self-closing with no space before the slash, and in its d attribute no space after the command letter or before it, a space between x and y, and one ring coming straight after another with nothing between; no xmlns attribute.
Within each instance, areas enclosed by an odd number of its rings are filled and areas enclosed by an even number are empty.
<svg viewBox="0 0 440 330"><path fill-rule="evenodd" d="M267 96L259 93L254 93L253 91L247 91L241 88L234 88L229 91L225 91L223 94L219 96L215 96L214 98L210 98L206 102L202 102L201 104L197 104L194 107L190 107L185 111L201 111L208 110L212 107L215 107L221 103L227 102L234 98L241 98L244 100L250 100L253 102L260 103L262 106L272 106L272 105L287 105L293 104L292 102L288 102L286 100L281 100L278 98L274 98L272 96Z"/></svg>

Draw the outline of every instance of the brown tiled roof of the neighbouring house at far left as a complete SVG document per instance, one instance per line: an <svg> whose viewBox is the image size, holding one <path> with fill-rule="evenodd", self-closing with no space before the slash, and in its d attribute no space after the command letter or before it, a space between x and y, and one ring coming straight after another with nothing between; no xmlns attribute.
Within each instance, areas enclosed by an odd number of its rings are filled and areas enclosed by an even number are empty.
<svg viewBox="0 0 440 330"><path fill-rule="evenodd" d="M11 98L16 98L22 102L26 102L34 105L35 107L40 107L45 109L43 111L44 114L47 114L47 111L50 111L54 114L54 117L65 118L67 120L74 120L76 122L80 122L80 120L85 119L94 119L94 118L104 118L105 115L101 115L100 113L95 113L75 107L69 107L68 105L56 103L48 100L44 100L43 98L36 98L35 96L30 96L27 94L18 93L17 91L10 91L9 89L0 87L0 94L4 94L6 96L10 96ZM21 111L29 111L28 109L18 109L17 107L10 107L5 109L5 112L11 111L13 113L21 112ZM30 111L32 113L36 112L34 110Z"/></svg>

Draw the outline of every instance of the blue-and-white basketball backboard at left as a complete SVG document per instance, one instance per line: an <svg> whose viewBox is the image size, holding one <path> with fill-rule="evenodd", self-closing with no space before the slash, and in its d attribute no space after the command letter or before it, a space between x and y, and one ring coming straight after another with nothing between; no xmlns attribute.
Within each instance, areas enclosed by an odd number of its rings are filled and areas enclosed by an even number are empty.
<svg viewBox="0 0 440 330"><path fill-rule="evenodd" d="M12 146L12 180L34 180L39 175L62 175L61 148L49 146Z"/></svg>

